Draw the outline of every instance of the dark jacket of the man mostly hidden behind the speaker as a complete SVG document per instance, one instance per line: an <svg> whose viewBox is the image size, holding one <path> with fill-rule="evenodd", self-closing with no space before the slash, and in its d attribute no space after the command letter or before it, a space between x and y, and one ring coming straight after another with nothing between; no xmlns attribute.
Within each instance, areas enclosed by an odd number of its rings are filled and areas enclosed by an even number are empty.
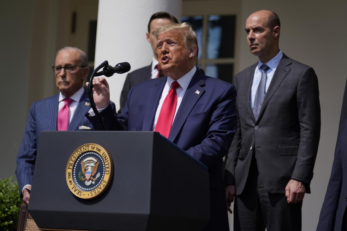
<svg viewBox="0 0 347 231"><path fill-rule="evenodd" d="M125 106L130 89L136 84L151 79L151 69L152 63L149 66L145 66L127 74L127 78L125 79L123 89L120 94L120 108L118 114L120 114L122 108Z"/></svg>

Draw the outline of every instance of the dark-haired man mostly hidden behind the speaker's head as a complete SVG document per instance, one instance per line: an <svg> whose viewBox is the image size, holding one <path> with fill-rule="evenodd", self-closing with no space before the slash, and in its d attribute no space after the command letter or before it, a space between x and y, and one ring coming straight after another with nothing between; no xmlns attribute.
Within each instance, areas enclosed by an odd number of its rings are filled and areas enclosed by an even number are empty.
<svg viewBox="0 0 347 231"><path fill-rule="evenodd" d="M156 53L156 37L154 36L154 32L161 26L166 24L178 23L175 16L170 15L167 12L160 11L153 14L148 23L148 32L146 32L146 39L151 44L153 51L152 63L143 68L137 69L129 74L124 82L124 86L120 95L120 108L118 113L121 112L121 109L125 106L127 101L127 96L130 89L147 79L154 79L158 77L162 77L163 73L160 70L160 66L158 64L158 54Z"/></svg>

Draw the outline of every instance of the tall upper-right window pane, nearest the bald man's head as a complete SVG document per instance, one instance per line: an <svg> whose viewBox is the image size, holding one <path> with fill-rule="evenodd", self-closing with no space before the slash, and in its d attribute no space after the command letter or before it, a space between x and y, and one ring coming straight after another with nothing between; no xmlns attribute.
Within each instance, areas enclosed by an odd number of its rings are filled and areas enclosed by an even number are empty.
<svg viewBox="0 0 347 231"><path fill-rule="evenodd" d="M210 15L207 31L207 58L233 58L235 44L234 15Z"/></svg>

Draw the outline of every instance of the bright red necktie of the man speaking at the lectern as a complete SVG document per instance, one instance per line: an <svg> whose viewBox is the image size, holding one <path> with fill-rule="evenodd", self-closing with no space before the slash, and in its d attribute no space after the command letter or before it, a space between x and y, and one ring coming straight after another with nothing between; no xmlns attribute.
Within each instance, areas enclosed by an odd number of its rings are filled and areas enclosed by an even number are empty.
<svg viewBox="0 0 347 231"><path fill-rule="evenodd" d="M163 105L161 106L158 121L156 122L154 132L159 132L166 138L169 137L172 122L174 121L174 115L177 104L176 88L179 87L179 83L174 81L171 84L171 89L166 96Z"/></svg>

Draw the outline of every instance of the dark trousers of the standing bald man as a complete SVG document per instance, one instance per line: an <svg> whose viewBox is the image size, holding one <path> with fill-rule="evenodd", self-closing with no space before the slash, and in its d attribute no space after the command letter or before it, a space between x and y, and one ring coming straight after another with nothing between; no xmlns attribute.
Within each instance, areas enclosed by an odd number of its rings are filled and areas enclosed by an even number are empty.
<svg viewBox="0 0 347 231"><path fill-rule="evenodd" d="M264 189L253 156L245 188L234 201L234 231L301 231L302 202Z"/></svg>

